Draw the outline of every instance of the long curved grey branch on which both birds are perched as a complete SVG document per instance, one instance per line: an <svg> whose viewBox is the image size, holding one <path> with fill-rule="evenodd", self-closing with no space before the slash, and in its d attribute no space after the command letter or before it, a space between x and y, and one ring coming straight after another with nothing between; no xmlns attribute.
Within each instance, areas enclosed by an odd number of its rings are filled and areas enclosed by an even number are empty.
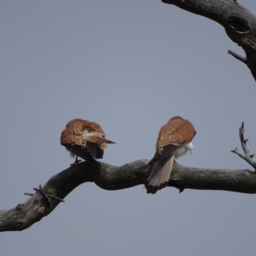
<svg viewBox="0 0 256 256"><path fill-rule="evenodd" d="M95 168L85 162L51 177L24 204L0 211L0 232L24 230L51 213L74 188L84 182L95 182L102 189L116 190L144 184L150 168L140 170L146 160L123 166L102 163ZM256 174L250 170L200 169L174 164L168 186L183 189L212 189L256 193ZM141 193L143 190L141 189Z"/></svg>

